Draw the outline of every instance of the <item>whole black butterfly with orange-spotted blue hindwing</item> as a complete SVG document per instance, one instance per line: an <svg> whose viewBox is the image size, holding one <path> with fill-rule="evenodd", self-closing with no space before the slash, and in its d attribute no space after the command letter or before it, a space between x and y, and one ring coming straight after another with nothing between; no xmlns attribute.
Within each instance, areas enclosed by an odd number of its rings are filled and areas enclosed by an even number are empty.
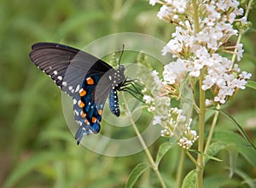
<svg viewBox="0 0 256 188"><path fill-rule="evenodd" d="M29 57L62 91L73 97L73 112L79 124L75 135L78 145L84 134L99 133L108 94L110 111L119 117L117 91L133 91L126 87L132 85L132 80L125 78L124 66L115 70L106 62L76 48L58 43L36 43L32 45Z"/></svg>

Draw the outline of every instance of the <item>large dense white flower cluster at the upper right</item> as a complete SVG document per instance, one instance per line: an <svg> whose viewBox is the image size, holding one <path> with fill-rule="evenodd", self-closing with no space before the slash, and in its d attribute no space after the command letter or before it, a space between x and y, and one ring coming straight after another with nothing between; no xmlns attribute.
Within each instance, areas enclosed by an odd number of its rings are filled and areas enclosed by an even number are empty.
<svg viewBox="0 0 256 188"><path fill-rule="evenodd" d="M237 61L241 60L242 44L226 46L230 37L238 31L232 26L233 22L247 23L245 17L236 19L243 14L236 0L205 0L198 1L199 29L195 32L192 3L177 0L150 0L150 4L161 3L157 16L160 20L176 24L172 39L162 49L162 54L171 53L176 61L165 66L164 81L168 84L180 83L186 73L190 77L200 77L204 69L203 90L212 92L212 99L206 104L224 104L230 96L236 94L238 88L244 89L247 79L252 76L242 71L238 66L219 53L236 54Z"/></svg>

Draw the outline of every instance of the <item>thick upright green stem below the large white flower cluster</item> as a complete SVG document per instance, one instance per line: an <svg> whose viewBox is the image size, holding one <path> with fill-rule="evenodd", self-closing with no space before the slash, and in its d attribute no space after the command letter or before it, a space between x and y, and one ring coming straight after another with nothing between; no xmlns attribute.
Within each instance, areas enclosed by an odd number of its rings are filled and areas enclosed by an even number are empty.
<svg viewBox="0 0 256 188"><path fill-rule="evenodd" d="M204 151L204 128L205 128L205 114L206 114L206 96L205 91L201 88L202 82L204 79L204 69L201 69L200 79L199 79L199 90L200 90L200 110L199 110L199 140L198 140L198 151L203 153ZM197 188L202 187L203 181L203 171L204 171L204 164L203 164L203 156L201 154L197 156L197 163L196 166L197 170Z"/></svg>

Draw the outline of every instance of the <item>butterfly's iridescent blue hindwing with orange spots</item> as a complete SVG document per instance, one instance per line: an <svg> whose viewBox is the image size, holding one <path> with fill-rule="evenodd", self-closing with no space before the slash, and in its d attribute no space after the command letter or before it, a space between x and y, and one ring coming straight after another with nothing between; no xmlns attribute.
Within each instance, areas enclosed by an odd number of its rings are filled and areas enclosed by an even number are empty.
<svg viewBox="0 0 256 188"><path fill-rule="evenodd" d="M74 96L75 119L80 125L75 136L78 144L84 134L97 134L101 129L102 110L111 86L108 74L112 71L105 72L92 67L84 77L79 94Z"/></svg>

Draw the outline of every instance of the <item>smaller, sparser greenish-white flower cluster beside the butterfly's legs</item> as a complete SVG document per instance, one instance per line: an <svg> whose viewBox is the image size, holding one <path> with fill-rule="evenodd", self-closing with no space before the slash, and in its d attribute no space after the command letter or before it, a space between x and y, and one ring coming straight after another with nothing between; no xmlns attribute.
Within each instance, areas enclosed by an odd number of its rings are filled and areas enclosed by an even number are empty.
<svg viewBox="0 0 256 188"><path fill-rule="evenodd" d="M184 71L183 64L178 63L175 66L180 67L180 71L176 72L177 76ZM172 67L169 67L171 71ZM140 77L144 83L149 85L149 88L143 89L143 100L148 105L148 111L154 114L153 125L159 124L163 129L160 134L166 138L176 138L178 145L184 149L189 149L198 136L195 130L190 130L190 124L192 119L183 115L183 110L171 108L171 98L168 94L163 93L165 91L165 85L158 77L157 71L152 71L151 74L147 74L147 77L143 77L144 74L140 74ZM171 79L173 81L171 81ZM170 82L181 81L179 77L170 77Z"/></svg>

